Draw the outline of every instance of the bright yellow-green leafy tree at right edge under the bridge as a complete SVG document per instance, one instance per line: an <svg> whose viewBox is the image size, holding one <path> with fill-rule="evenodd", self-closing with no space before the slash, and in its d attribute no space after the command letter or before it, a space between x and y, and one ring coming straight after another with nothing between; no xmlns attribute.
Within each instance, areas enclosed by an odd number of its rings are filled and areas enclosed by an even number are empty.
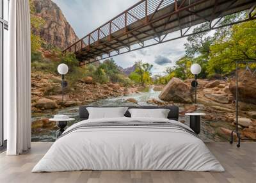
<svg viewBox="0 0 256 183"><path fill-rule="evenodd" d="M216 40L211 46L211 59L207 68L210 75L228 74L236 61L256 61L256 20L232 26L230 38Z"/></svg>

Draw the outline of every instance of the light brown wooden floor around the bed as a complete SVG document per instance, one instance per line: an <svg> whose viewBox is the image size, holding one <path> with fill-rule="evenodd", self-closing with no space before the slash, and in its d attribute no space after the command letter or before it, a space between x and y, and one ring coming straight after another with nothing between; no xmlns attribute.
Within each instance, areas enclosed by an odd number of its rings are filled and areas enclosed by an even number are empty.
<svg viewBox="0 0 256 183"><path fill-rule="evenodd" d="M224 166L225 172L194 171L70 171L31 173L31 169L52 143L32 143L29 152L19 156L0 154L0 182L256 182L256 143L206 143Z"/></svg>

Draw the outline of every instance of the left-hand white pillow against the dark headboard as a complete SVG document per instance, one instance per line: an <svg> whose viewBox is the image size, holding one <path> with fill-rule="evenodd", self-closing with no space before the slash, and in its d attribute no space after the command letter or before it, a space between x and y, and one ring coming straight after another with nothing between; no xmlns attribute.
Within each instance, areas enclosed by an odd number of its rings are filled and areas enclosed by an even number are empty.
<svg viewBox="0 0 256 183"><path fill-rule="evenodd" d="M89 119L96 118L120 118L125 117L124 114L128 107L86 107L89 113Z"/></svg>

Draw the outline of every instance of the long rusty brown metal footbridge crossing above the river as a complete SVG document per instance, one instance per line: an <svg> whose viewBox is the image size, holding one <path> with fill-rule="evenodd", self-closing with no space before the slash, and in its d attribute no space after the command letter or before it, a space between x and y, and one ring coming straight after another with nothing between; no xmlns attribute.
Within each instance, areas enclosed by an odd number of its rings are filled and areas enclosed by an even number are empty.
<svg viewBox="0 0 256 183"><path fill-rule="evenodd" d="M203 31L210 31L256 19L255 6L255 0L141 0L63 52L76 54L80 65L93 63L196 34L191 29L204 22L209 28ZM244 10L248 16L243 20L220 24L223 17Z"/></svg>

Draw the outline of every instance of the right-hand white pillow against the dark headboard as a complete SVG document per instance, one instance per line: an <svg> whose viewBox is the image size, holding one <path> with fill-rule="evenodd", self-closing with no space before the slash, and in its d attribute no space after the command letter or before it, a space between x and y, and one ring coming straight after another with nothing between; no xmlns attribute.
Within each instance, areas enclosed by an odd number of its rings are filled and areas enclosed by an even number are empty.
<svg viewBox="0 0 256 183"><path fill-rule="evenodd" d="M129 109L131 118L167 118L170 109Z"/></svg>

